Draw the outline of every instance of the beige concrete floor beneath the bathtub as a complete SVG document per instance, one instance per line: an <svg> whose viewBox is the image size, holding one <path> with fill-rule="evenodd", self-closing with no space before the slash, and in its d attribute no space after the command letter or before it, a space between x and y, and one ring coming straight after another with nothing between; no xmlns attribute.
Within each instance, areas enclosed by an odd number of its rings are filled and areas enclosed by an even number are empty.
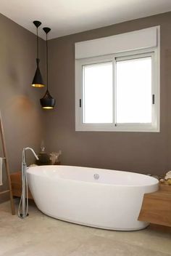
<svg viewBox="0 0 171 256"><path fill-rule="evenodd" d="M1 256L171 255L171 231L89 228L43 215L34 205L30 205L29 213L21 220L10 214L9 202L0 204Z"/></svg>

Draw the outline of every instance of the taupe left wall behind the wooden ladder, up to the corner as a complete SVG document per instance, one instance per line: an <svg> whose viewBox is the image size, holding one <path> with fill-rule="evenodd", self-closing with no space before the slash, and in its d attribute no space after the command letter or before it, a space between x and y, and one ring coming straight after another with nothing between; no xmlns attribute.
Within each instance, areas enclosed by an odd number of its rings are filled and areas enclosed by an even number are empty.
<svg viewBox="0 0 171 256"><path fill-rule="evenodd" d="M30 21L31 22L31 21ZM36 71L36 36L0 15L0 110L4 121L10 171L21 169L22 148L39 151L43 138L41 89L30 87ZM41 70L45 41L40 41ZM30 162L31 154L28 152ZM29 159L30 158L30 159ZM4 189L6 177L4 175ZM1 198L0 198L1 200Z"/></svg>

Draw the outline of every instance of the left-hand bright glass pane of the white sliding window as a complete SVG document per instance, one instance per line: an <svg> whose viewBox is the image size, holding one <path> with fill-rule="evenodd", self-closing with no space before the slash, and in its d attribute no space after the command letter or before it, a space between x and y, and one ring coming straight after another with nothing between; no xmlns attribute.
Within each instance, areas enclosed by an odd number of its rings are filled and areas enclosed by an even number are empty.
<svg viewBox="0 0 171 256"><path fill-rule="evenodd" d="M83 65L83 123L112 120L112 62Z"/></svg>

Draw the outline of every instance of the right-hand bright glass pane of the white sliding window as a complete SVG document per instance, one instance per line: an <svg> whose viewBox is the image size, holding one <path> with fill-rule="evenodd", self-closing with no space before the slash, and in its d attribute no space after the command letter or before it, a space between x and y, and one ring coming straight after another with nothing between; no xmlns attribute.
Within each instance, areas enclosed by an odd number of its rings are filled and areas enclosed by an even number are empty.
<svg viewBox="0 0 171 256"><path fill-rule="evenodd" d="M151 57L117 61L117 123L151 123Z"/></svg>

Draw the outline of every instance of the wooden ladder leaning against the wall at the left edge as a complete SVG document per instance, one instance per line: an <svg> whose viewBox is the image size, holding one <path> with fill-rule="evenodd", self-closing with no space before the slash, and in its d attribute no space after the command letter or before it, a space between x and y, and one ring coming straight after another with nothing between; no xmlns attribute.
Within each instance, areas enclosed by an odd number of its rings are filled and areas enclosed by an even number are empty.
<svg viewBox="0 0 171 256"><path fill-rule="evenodd" d="M4 154L4 156L2 156L2 158L4 159L5 169L7 172L7 182L8 182L8 186L9 186L9 189L7 189L6 191L1 191L0 195L4 194L4 193L9 193L9 198L11 201L11 208L12 208L12 215L15 215L14 201L13 201L13 196L12 196L12 184L11 184L11 179L10 179L10 174L9 174L9 163L8 163L8 159L7 159L7 148L6 148L6 144L5 144L4 127L2 124L1 113L0 113L0 134L1 134L2 152Z"/></svg>

